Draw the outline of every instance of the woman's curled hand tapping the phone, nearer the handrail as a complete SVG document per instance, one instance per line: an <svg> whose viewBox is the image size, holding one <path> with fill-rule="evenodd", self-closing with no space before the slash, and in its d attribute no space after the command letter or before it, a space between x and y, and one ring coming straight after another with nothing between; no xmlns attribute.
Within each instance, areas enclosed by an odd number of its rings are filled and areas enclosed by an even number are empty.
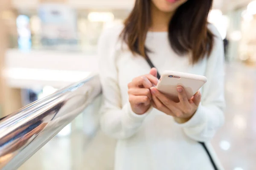
<svg viewBox="0 0 256 170"><path fill-rule="evenodd" d="M157 83L157 69L152 68L149 74L136 77L128 84L129 102L134 113L142 115L148 111L152 99L150 88Z"/></svg>

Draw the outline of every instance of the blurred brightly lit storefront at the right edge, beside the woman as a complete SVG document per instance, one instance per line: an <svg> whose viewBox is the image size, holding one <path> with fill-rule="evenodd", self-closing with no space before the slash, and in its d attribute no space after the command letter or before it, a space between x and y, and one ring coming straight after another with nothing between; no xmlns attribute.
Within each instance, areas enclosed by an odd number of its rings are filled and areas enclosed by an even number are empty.
<svg viewBox="0 0 256 170"><path fill-rule="evenodd" d="M256 64L256 0L247 6L230 11L227 38L228 55L231 60L239 60L246 65Z"/></svg>

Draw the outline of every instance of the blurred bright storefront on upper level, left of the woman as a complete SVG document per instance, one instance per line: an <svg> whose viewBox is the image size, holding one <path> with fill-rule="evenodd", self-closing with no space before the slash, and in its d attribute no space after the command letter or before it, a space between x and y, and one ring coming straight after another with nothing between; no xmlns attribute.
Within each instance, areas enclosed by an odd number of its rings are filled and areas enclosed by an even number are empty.
<svg viewBox="0 0 256 170"><path fill-rule="evenodd" d="M129 10L73 9L61 3L42 3L38 10L17 13L18 35L11 35L12 39L16 36L16 41L12 41L10 48L93 54L102 29L121 23Z"/></svg>

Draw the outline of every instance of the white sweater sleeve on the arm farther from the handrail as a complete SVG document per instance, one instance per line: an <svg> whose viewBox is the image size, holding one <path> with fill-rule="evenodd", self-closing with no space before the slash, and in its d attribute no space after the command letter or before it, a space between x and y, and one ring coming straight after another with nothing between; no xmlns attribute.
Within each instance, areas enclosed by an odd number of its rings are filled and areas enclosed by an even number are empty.
<svg viewBox="0 0 256 170"><path fill-rule="evenodd" d="M201 103L188 122L178 124L187 136L199 142L212 139L224 124L224 45L216 28L210 30L215 35L214 47L207 61L207 83L202 88Z"/></svg>

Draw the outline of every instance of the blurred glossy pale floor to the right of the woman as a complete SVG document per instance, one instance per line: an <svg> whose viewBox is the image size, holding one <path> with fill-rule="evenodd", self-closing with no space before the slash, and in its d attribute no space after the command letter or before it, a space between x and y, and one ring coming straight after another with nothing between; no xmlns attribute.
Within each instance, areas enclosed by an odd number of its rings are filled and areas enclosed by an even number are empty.
<svg viewBox="0 0 256 170"><path fill-rule="evenodd" d="M256 69L227 65L226 123L212 144L226 170L256 170Z"/></svg>

